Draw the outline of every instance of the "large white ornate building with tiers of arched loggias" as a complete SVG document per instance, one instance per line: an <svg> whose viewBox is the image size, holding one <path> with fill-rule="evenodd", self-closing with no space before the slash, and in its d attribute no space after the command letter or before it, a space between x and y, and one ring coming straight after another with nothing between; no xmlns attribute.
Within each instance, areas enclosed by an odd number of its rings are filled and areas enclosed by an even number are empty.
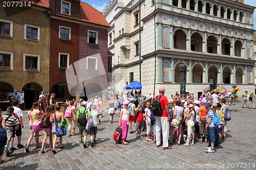
<svg viewBox="0 0 256 170"><path fill-rule="evenodd" d="M123 75L116 89L139 81L141 18L142 93L180 90L179 65L186 64L186 91L236 84L254 92L253 10L242 0L112 0L109 22L113 70ZM140 17L139 17L140 15ZM119 78L115 78L119 79ZM154 90L155 89L155 90Z"/></svg>

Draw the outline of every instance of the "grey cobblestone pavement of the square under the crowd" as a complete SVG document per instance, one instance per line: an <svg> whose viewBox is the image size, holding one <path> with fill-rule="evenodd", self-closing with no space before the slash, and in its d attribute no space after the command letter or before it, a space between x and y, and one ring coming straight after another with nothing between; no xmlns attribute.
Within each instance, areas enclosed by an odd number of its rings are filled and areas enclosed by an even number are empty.
<svg viewBox="0 0 256 170"><path fill-rule="evenodd" d="M84 149L79 143L79 135L63 137L64 149L59 149L57 140L57 154L50 150L49 138L45 146L45 154L35 148L32 139L30 153L25 148L14 151L10 157L3 155L6 163L0 169L255 169L255 121L256 109L241 108L242 103L229 106L231 120L228 122L227 139L220 144L215 153L205 153L206 143L197 140L194 146L183 144L173 145L171 150L157 148L152 141L136 139L136 134L128 134L129 145L116 144L113 133L118 126L118 117L114 117L113 126L109 123L108 112L103 113L102 123L98 125L97 144ZM24 111L24 125L22 144L26 145L29 130L27 111ZM4 112L5 114L5 112ZM134 125L134 124L133 124ZM73 128L73 127L72 127ZM134 130L133 126L133 130ZM78 134L78 129L76 129ZM39 133L39 144L44 138ZM143 136L145 132L142 133ZM90 141L88 136L87 141ZM17 145L17 138L14 147Z"/></svg>

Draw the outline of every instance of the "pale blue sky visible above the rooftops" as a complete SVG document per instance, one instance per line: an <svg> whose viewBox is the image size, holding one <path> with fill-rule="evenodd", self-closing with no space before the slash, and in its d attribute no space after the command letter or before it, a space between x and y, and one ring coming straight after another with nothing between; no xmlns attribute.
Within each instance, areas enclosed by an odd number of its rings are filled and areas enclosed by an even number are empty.
<svg viewBox="0 0 256 170"><path fill-rule="evenodd" d="M110 0L81 0L81 2L88 3L100 12L103 11L106 5L110 2ZM244 4L250 5L255 7L256 6L256 0L245 0ZM256 30L256 9L254 10L254 16L253 16L253 23L254 23L254 30Z"/></svg>

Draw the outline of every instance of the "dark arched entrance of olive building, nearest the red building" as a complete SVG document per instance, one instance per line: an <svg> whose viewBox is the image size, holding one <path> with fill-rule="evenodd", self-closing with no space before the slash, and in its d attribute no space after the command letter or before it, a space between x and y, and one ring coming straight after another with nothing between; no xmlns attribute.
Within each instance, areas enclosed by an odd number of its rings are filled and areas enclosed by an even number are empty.
<svg viewBox="0 0 256 170"><path fill-rule="evenodd" d="M42 87L38 83L27 83L23 86L22 90L24 91L24 101L25 101L25 108L31 108L33 102L38 101L39 95L42 93Z"/></svg>

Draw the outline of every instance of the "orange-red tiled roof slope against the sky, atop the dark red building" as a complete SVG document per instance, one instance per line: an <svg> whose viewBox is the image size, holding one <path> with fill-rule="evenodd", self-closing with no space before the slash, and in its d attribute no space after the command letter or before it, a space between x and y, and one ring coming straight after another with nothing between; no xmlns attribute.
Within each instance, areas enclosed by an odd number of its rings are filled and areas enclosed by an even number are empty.
<svg viewBox="0 0 256 170"><path fill-rule="evenodd" d="M90 4L80 2L80 20L109 27L109 23L101 12L93 8Z"/></svg>

